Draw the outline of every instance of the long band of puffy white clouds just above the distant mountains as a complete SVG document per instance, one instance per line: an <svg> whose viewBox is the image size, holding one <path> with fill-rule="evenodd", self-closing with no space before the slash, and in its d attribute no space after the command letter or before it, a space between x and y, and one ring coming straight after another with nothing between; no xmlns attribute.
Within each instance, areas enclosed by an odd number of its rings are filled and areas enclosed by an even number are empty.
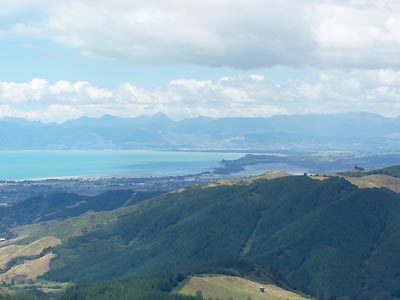
<svg viewBox="0 0 400 300"><path fill-rule="evenodd" d="M0 116L62 122L83 115L134 117L163 112L181 119L267 117L276 114L369 111L400 114L400 72L326 71L317 80L274 84L260 75L219 80L178 79L152 89L131 83L115 88L44 79L0 82Z"/></svg>

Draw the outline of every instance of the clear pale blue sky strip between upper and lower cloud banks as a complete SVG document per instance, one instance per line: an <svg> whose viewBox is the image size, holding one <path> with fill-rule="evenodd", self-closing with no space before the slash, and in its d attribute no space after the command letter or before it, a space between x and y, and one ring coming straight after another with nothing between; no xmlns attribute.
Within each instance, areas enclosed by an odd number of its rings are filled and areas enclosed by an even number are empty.
<svg viewBox="0 0 400 300"><path fill-rule="evenodd" d="M224 76L261 74L271 82L289 79L316 78L309 69L275 66L241 70L231 67L208 67L195 64L142 65L116 59L82 55L76 49L45 39L0 40L0 80L24 82L32 78L46 78L50 82L87 80L92 84L113 87L131 82L141 87L154 88L177 78L218 80Z"/></svg>

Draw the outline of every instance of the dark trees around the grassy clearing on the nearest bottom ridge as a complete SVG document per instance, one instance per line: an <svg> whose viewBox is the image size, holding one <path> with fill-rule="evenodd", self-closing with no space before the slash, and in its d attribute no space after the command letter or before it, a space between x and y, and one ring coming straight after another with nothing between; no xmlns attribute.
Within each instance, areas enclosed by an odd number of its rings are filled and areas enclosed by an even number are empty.
<svg viewBox="0 0 400 300"><path fill-rule="evenodd" d="M270 270L249 260L239 259L211 262L172 274L159 274L150 277L131 277L105 282L78 284L77 286L69 288L59 299L202 300L203 297L200 290L196 290L196 295L192 296L181 292L181 288L192 276L199 274L224 274L227 276L236 276L236 278L257 279L263 284L279 283L284 286L286 290L290 290L287 285L272 274ZM228 293L220 299L228 300ZM236 300L246 299L248 299L248 297Z"/></svg>

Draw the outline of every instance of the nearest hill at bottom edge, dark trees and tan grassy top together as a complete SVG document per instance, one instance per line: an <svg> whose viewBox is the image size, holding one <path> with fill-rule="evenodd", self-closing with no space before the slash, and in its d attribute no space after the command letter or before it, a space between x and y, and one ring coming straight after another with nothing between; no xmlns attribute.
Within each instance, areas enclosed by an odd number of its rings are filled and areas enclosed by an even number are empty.
<svg viewBox="0 0 400 300"><path fill-rule="evenodd" d="M214 274L214 275L203 275ZM226 274L226 275L221 275ZM212 277L211 277L212 276ZM207 278L207 284L196 286L198 278ZM256 280L252 281L252 280ZM191 270L178 273L157 274L153 276L135 276L123 279L114 279L105 282L78 284L67 289L60 297L62 300L91 300L91 299L130 299L130 300L202 300L206 299L306 299L288 289L269 270L248 260L226 260L208 263ZM216 289L223 285L225 290ZM265 286L268 290L261 293L259 287ZM257 286L257 290L254 287ZM226 288L230 290L227 291ZM203 294L199 294L202 292ZM258 297L257 297L258 296ZM203 297L203 298L202 298Z"/></svg>

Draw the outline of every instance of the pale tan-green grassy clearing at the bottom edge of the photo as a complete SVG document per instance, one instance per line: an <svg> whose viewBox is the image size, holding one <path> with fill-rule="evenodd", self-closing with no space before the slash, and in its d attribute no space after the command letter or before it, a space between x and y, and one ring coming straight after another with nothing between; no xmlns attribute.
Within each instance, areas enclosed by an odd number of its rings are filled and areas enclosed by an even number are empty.
<svg viewBox="0 0 400 300"><path fill-rule="evenodd" d="M260 291L265 287L265 292ZM204 298L245 300L304 300L299 294L286 291L275 285L264 285L234 276L194 276L177 289L180 294L195 295L201 291Z"/></svg>

